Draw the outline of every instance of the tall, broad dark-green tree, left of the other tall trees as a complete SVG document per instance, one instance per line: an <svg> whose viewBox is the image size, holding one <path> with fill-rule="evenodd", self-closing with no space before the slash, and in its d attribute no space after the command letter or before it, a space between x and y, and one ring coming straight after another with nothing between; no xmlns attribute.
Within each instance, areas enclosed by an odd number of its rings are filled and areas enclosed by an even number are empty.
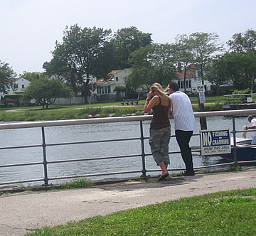
<svg viewBox="0 0 256 236"><path fill-rule="evenodd" d="M61 75L74 92L81 91L87 97L90 75L107 75L110 71L111 66L107 65L111 65L111 60L105 60L112 47L110 39L111 30L80 28L78 25L66 27L63 43L55 43L53 59L44 63L43 68L50 75ZM102 60L105 60L104 71L99 67Z"/></svg>

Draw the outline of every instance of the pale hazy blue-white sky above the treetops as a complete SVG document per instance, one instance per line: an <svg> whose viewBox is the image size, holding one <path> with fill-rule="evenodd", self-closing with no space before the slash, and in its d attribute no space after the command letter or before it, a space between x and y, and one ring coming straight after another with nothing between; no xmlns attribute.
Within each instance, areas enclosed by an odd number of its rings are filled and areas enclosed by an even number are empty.
<svg viewBox="0 0 256 236"><path fill-rule="evenodd" d="M0 0L0 61L15 73L43 72L65 27L135 26L154 43L178 35L217 33L225 44L235 33L256 31L255 0Z"/></svg>

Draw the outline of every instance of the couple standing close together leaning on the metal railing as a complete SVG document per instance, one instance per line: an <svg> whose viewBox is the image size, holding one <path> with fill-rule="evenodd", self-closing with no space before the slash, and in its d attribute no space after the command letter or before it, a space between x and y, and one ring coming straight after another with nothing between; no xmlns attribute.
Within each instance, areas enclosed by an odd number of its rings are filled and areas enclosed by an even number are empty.
<svg viewBox="0 0 256 236"><path fill-rule="evenodd" d="M161 167L159 181L164 180L168 173L169 141L171 138L171 126L169 114L174 115L174 129L176 141L181 149L181 156L186 166L185 176L193 176L193 160L189 141L193 134L196 122L193 115L191 100L184 92L179 91L178 83L171 82L166 88L169 95L159 85L154 83L150 87L144 105L144 112L153 110L149 130L149 145L157 165Z"/></svg>

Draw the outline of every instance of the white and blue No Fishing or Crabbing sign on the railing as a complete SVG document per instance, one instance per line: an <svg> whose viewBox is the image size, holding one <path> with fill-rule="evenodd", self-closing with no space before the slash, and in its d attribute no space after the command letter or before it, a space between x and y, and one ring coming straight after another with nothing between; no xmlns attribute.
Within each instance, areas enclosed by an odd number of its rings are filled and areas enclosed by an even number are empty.
<svg viewBox="0 0 256 236"><path fill-rule="evenodd" d="M202 155L206 156L231 153L229 129L201 130L200 136Z"/></svg>

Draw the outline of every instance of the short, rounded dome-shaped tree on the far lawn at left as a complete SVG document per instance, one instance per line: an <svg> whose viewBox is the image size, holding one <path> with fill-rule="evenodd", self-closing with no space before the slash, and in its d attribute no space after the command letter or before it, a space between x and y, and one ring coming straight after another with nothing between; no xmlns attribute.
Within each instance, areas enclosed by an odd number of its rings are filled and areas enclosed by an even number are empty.
<svg viewBox="0 0 256 236"><path fill-rule="evenodd" d="M50 104L55 102L56 97L72 97L73 92L58 79L40 79L33 80L26 88L24 98L26 100L35 99L36 103L40 104L46 109Z"/></svg>

